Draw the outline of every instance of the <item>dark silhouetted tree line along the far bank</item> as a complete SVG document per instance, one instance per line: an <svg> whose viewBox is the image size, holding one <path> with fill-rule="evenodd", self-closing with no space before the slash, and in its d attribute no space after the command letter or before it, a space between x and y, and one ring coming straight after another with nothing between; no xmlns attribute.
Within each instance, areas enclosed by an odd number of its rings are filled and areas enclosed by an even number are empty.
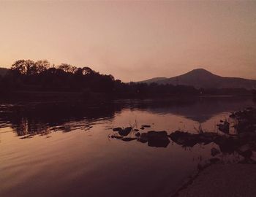
<svg viewBox="0 0 256 197"><path fill-rule="evenodd" d="M115 80L111 74L99 74L89 66L76 67L68 63L58 66L50 65L47 60L18 60L11 69L0 76L0 93L10 91L67 91L118 93L123 95L200 95L237 93L244 94L246 90L203 90L186 85L171 85L157 83L124 83Z"/></svg>

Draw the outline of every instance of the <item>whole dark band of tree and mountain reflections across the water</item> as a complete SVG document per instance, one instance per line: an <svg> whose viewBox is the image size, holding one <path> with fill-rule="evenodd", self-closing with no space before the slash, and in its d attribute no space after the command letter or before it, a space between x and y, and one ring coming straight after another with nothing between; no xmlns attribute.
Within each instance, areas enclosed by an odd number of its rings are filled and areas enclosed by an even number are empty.
<svg viewBox="0 0 256 197"><path fill-rule="evenodd" d="M219 113L236 111L252 105L254 105L252 99L246 97L110 101L90 107L82 103L1 104L0 126L10 125L18 136L24 136L21 139L26 139L54 131L69 132L75 129L86 131L95 121L111 121L115 115L125 109L160 115L178 115L204 123Z"/></svg>

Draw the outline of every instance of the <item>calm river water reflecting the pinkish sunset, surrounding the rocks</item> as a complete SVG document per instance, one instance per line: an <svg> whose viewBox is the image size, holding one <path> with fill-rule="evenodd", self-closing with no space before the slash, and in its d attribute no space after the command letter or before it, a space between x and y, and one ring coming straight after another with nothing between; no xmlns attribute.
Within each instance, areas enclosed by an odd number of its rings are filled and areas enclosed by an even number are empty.
<svg viewBox="0 0 256 197"><path fill-rule="evenodd" d="M114 127L144 131L216 131L230 112L255 106L250 98L192 101L114 101L10 104L0 107L0 196L170 196L216 144L148 147L112 139ZM132 132L129 136L134 136ZM217 149L219 149L217 147ZM238 155L220 155L233 162Z"/></svg>

